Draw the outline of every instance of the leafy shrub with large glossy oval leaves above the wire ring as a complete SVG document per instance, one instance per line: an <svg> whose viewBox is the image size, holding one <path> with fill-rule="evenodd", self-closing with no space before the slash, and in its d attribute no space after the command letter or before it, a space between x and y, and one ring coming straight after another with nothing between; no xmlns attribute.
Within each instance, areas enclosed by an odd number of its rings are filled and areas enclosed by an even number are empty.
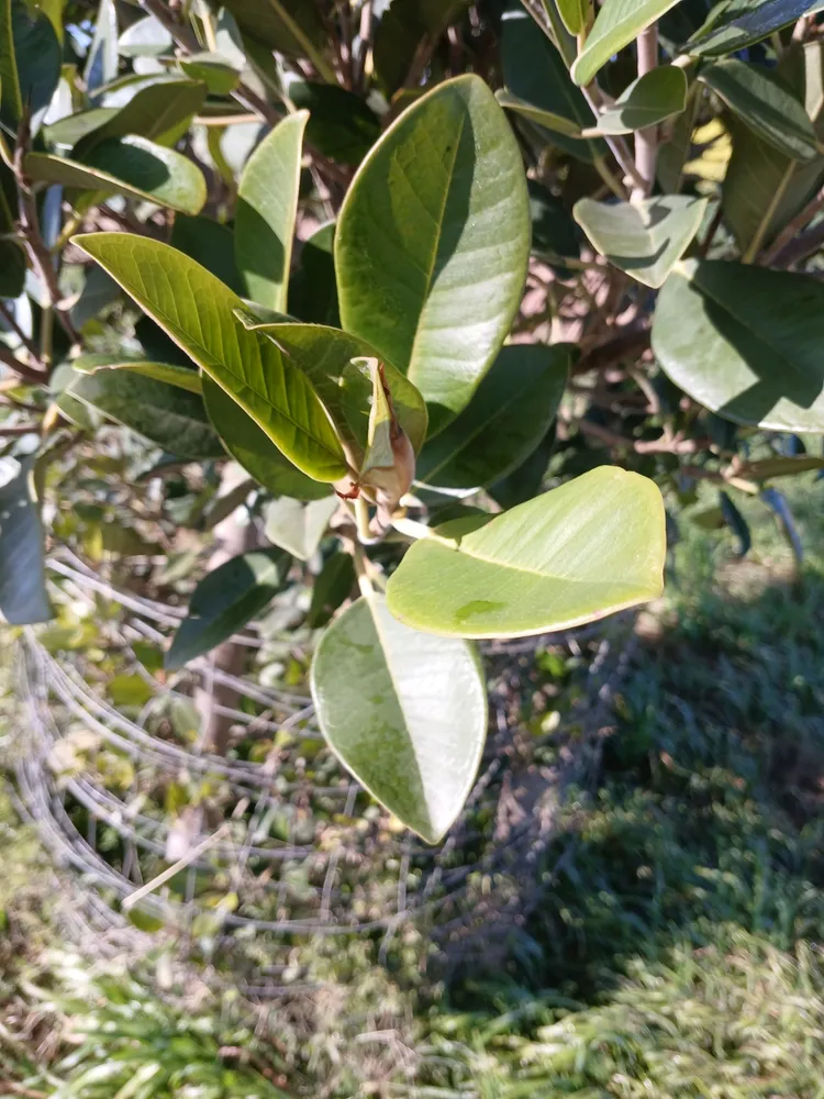
<svg viewBox="0 0 824 1099"><path fill-rule="evenodd" d="M167 668L308 584L330 746L437 842L477 640L659 595L662 493L716 492L741 552L760 499L798 547L771 482L824 466L823 7L0 0L7 621L49 617L44 522L79 536L51 470L122 425L160 546L242 532ZM214 522L169 469L222 477Z"/></svg>

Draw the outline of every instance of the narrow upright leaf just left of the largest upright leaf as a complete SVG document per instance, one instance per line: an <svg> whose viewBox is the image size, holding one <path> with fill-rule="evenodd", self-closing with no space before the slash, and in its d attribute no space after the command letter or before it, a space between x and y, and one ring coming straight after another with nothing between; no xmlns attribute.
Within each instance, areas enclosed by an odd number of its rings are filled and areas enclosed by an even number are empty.
<svg viewBox="0 0 824 1099"><path fill-rule="evenodd" d="M237 269L249 298L281 312L287 308L308 120L307 111L298 111L264 137L246 163L237 191Z"/></svg>

